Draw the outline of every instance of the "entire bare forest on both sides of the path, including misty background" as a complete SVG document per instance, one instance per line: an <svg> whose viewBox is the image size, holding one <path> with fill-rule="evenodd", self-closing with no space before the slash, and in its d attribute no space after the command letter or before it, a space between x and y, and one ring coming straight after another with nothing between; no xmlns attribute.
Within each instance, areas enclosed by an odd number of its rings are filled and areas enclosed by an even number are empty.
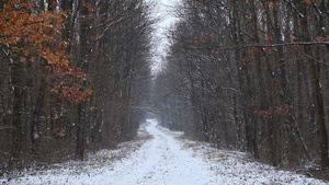
<svg viewBox="0 0 329 185"><path fill-rule="evenodd" d="M182 0L156 76L150 12L0 2L0 176L114 149L147 115L273 166L329 167L328 0Z"/></svg>

